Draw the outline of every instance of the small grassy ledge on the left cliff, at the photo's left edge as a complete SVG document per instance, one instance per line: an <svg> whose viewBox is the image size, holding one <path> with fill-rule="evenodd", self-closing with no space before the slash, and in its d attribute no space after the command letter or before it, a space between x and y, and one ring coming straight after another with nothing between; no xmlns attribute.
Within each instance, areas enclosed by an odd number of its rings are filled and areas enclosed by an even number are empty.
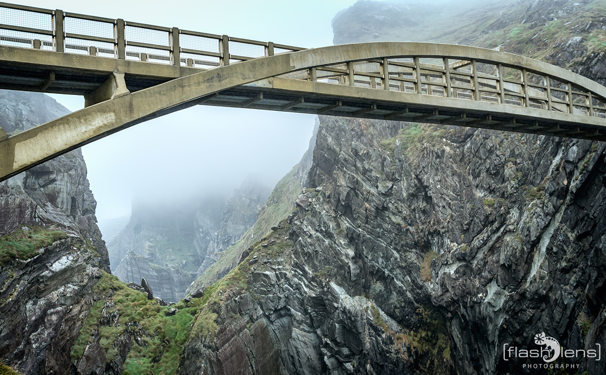
<svg viewBox="0 0 606 375"><path fill-rule="evenodd" d="M27 260L38 255L38 249L52 245L53 242L67 238L61 231L35 226L29 231L19 228L17 231L0 237L0 266L12 259Z"/></svg>

